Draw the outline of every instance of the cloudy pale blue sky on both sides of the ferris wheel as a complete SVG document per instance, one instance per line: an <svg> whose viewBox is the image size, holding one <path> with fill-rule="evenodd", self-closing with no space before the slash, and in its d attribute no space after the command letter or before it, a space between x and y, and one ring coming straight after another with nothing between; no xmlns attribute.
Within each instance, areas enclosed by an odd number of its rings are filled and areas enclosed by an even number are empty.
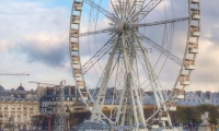
<svg viewBox="0 0 219 131"><path fill-rule="evenodd" d="M0 0L0 72L31 74L0 75L0 85L9 90L22 83L26 90L35 90L37 84L30 81L59 84L66 80L68 85L74 84L69 53L72 1ZM186 91L219 92L218 5L218 0L200 0L199 53ZM178 10L183 12L184 8L178 7Z"/></svg>

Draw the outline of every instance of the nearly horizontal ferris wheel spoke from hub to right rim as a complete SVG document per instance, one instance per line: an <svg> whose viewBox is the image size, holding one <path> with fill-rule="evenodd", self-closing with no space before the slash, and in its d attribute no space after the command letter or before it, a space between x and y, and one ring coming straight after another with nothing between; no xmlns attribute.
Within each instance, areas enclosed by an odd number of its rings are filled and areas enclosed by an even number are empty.
<svg viewBox="0 0 219 131"><path fill-rule="evenodd" d="M189 20L189 17L181 17L181 19L173 19L173 20L152 22L152 23L132 24L131 26L145 27L145 26L161 25L161 24L166 24L166 23L183 22L183 21L188 21L188 20Z"/></svg>

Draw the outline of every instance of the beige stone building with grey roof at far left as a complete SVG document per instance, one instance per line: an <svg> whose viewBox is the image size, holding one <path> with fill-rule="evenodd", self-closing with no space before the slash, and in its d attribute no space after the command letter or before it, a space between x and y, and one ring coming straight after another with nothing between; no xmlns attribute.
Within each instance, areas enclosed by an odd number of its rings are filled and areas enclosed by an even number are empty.
<svg viewBox="0 0 219 131"><path fill-rule="evenodd" d="M31 129L31 118L38 114L36 91L25 91L22 85L16 90L4 90L0 85L1 129L11 117L19 129Z"/></svg>

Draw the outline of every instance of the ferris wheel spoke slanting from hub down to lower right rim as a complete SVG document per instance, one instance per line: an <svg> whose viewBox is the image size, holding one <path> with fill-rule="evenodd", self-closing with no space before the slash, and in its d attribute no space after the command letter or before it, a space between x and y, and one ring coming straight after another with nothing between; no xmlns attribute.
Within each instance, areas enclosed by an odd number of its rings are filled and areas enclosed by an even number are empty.
<svg viewBox="0 0 219 131"><path fill-rule="evenodd" d="M149 39L145 35L138 33L137 37L140 38L141 40L146 41L149 46L151 46L155 50L158 50L161 53L165 55L168 58L170 58L171 60L173 60L175 63L177 63L180 66L183 66L183 60L181 60L178 57L176 57L175 55L171 53L169 50L164 49L163 47L161 47L160 45L158 45L153 40Z"/></svg>

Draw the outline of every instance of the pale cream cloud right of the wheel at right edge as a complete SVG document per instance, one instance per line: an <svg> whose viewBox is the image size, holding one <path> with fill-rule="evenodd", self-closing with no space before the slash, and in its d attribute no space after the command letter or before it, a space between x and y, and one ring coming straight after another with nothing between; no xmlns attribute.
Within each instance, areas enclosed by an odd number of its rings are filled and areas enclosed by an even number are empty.
<svg viewBox="0 0 219 131"><path fill-rule="evenodd" d="M216 56L219 56L219 45L204 39L200 45L203 45L200 47L203 51L197 56L197 71L195 72L194 82L211 84L217 87L219 83L219 68L217 68L219 67L219 61Z"/></svg>

